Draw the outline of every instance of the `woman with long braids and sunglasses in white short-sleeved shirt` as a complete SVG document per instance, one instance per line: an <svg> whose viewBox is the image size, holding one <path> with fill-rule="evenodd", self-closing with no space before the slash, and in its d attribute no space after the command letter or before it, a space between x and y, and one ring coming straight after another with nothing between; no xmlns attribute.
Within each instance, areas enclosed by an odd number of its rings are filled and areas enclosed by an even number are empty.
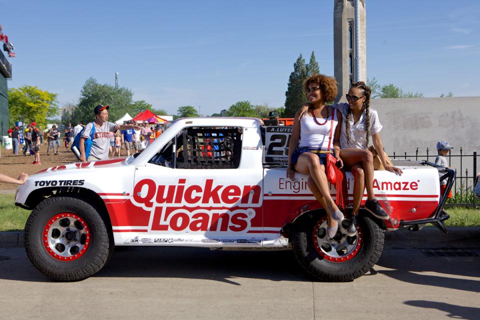
<svg viewBox="0 0 480 320"><path fill-rule="evenodd" d="M368 150L370 136L375 150L383 151L383 144L379 133L382 125L376 110L370 108L370 94L370 88L363 81L354 82L346 94L348 103L332 105L333 108L340 110L345 119L341 123L340 158L345 169L350 170L355 178L351 223L347 228L349 235L356 232L357 214L365 187L367 194L365 209L377 218L384 220L389 218L373 193L373 155ZM309 103L305 104L300 110L300 115L306 112L308 107ZM402 173L399 168L387 163L384 152L378 152L378 157L385 170L399 175ZM312 181L308 181L308 186L314 194L318 192Z"/></svg>

